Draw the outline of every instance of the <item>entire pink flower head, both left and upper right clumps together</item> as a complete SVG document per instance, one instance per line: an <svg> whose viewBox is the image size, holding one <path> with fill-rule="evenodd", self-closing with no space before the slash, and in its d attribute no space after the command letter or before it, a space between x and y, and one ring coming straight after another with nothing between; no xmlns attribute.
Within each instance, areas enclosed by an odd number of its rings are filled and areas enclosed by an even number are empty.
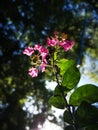
<svg viewBox="0 0 98 130"><path fill-rule="evenodd" d="M63 48L65 51L68 51L73 47L74 42L67 40L67 35L64 33L54 32L54 35L52 37L47 37L46 44L47 47L59 46L60 48ZM39 70L41 70L42 72L46 70L48 64L47 61L48 54L50 55L50 58L52 58L48 49L45 48L44 46L41 46L40 44L36 44L34 47L27 47L23 51L23 54L26 54L27 56L33 55L33 67L30 68L28 72L28 74L31 77L38 76Z"/></svg>

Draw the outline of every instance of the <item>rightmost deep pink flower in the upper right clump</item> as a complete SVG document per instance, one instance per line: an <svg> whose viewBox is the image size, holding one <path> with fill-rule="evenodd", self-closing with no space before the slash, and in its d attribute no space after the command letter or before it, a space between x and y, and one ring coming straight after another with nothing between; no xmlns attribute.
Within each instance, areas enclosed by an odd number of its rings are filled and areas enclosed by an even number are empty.
<svg viewBox="0 0 98 130"><path fill-rule="evenodd" d="M63 40L60 43L60 46L64 48L65 51L68 51L69 49L71 49L74 45L73 41L68 41L68 40Z"/></svg>

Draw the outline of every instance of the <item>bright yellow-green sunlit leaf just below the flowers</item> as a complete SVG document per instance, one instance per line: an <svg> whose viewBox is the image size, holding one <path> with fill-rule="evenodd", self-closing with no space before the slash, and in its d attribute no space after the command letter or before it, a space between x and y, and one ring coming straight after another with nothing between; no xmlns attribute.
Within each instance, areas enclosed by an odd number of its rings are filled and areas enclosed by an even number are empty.
<svg viewBox="0 0 98 130"><path fill-rule="evenodd" d="M73 64L75 64L74 60L61 59L58 61L57 66L60 68L60 74L63 75Z"/></svg>

